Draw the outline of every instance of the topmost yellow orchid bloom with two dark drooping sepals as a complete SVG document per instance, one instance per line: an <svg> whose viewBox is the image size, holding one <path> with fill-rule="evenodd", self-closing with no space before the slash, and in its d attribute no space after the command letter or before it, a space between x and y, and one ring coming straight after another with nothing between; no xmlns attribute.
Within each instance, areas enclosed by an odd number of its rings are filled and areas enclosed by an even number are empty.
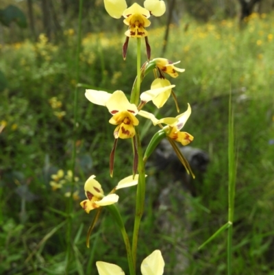
<svg viewBox="0 0 274 275"><path fill-rule="evenodd" d="M166 11L166 5L162 0L146 0L144 7L142 8L138 3L134 3L127 8L125 0L104 0L105 10L114 19L120 19L123 16L125 25L128 26L125 36L127 36L123 45L123 58L127 55L127 46L129 43L129 37L142 38L145 37L147 46L147 58L150 59L150 46L149 40L147 39L147 30L145 27L149 27L151 22L149 17L151 14L154 16L162 16Z"/></svg>

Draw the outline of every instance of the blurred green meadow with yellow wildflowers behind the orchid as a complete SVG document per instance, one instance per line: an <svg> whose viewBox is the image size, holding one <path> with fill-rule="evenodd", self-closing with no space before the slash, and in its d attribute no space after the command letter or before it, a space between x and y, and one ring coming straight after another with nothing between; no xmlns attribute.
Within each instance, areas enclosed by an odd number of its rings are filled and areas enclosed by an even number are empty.
<svg viewBox="0 0 274 275"><path fill-rule="evenodd" d="M181 60L178 67L186 71L171 82L176 84L181 110L187 103L192 106L185 130L195 136L192 146L210 156L203 180L192 183L197 197L189 202L191 230L182 236L189 261L185 274L226 274L225 238L217 238L201 252L197 248L227 222L229 91L238 148L234 274L274 274L274 2L169 0L167 6L166 14L151 19L148 28L151 58ZM72 0L0 3L0 274L65 274L78 12L79 3ZM84 0L82 27L80 83L129 95L136 74L135 45L131 39L124 62L122 19L108 16L103 0ZM143 53L145 62L145 47ZM152 80L152 75L145 78L142 91ZM69 274L97 274L97 260L127 270L120 233L106 213L91 237L91 248L86 248L93 213L86 215L79 206L91 174L108 192L132 173L132 156L124 154L131 152L131 145L119 141L114 178L109 177L113 129L102 109L90 104L84 88L79 88ZM176 115L172 100L158 113L167 115ZM155 130L144 128L144 145ZM152 170L149 176L153 178ZM119 193L129 230L134 192ZM151 190L147 193L153 196ZM173 251L183 250L161 234L155 224L158 215L149 199L139 261L164 243L171 243ZM175 274L174 265L166 262L164 274Z"/></svg>

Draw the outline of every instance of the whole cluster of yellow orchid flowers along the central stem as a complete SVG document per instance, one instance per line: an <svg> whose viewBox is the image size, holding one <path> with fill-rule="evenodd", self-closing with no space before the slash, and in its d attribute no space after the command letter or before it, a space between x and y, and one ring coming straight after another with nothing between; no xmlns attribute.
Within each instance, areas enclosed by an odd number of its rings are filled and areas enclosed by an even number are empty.
<svg viewBox="0 0 274 275"><path fill-rule="evenodd" d="M142 110L149 101L152 101L157 108L161 108L172 95L175 100L177 112L179 112L177 99L175 97L175 93L173 92L175 85L171 84L171 82L166 79L165 74L168 74L171 77L177 77L178 72L182 73L184 72L184 69L175 67L175 64L179 62L171 62L165 58L155 58L150 60L151 48L147 38L148 32L145 29L145 27L148 27L151 24L149 21L151 14L154 16L161 16L164 14L166 10L164 1L145 0L145 8L142 8L138 5L138 3L134 3L131 7L127 8L127 3L125 0L104 0L104 4L105 10L108 14L110 14L110 16L115 19L119 19L123 16L125 18L123 22L128 26L128 29L125 32L125 36L127 38L123 45L123 58L125 59L126 57L130 37L138 39L145 37L147 62L145 62L145 64L143 64L139 69L140 71L137 72L136 82L134 82L134 86L132 88L132 94L137 91L137 99L132 100L131 98L129 101L125 93L120 90L114 91L114 93L90 89L86 90L85 96L90 102L92 102L92 104L97 104L108 108L108 111L112 115L109 123L116 126L114 129L114 145L110 154L110 176L113 175L114 171L114 154L118 139L132 139L134 150L133 174L121 180L108 195L104 195L101 184L95 180L94 175L88 178L84 185L87 200L80 203L86 213L90 213L90 211L96 208L101 209L101 206L110 206L118 202L119 196L115 193L118 189L132 187L137 184L137 186L139 186L141 184L140 178L143 176L145 179L145 169L140 169L140 167L138 167L138 165L140 165L138 161L139 158L146 161L150 156L151 151L155 149L155 146L158 145L160 140L164 137L171 142L176 154L186 167L186 171L190 171L190 173L192 173L186 159L177 149L177 145L175 145L174 142L177 141L182 145L188 145L193 140L193 136L191 134L181 131L186 124L188 117L190 117L190 105L188 104L186 112L177 115L177 117L166 117L163 119L157 119L151 112ZM151 84L151 89L140 93L140 82L142 82L145 75L147 75L150 71L153 71L155 75L155 80ZM160 131L158 131L158 133L156 133L151 139L145 156L138 155L138 152L140 152L138 151L138 146L140 146L138 141L140 141L140 139L136 131L139 124L137 115L151 120L153 125L158 125L161 128ZM159 136L160 139L158 138ZM144 164L142 163L142 165ZM139 174L136 174L137 170L139 170ZM143 173L142 176L140 175L141 173ZM134 253L132 252L132 254ZM97 270L99 275L125 274L118 265L105 263L102 261L97 262ZM142 262L141 272L142 275L163 274L164 260L162 259L160 250L155 250Z"/></svg>

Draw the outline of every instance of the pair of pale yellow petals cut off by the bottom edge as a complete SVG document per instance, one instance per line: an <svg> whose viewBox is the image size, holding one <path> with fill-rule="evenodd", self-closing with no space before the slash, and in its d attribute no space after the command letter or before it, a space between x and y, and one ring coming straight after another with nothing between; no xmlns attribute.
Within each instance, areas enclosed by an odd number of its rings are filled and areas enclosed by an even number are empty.
<svg viewBox="0 0 274 275"><path fill-rule="evenodd" d="M125 275L125 272L113 263L103 261L96 262L99 275ZM164 259L160 250L154 250L141 264L142 275L162 275L164 274Z"/></svg>

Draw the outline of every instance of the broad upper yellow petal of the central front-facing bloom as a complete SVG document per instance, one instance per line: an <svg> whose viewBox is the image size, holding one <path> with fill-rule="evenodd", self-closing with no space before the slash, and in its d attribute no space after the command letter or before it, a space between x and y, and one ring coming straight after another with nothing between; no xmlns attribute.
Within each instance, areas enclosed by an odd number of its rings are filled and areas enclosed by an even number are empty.
<svg viewBox="0 0 274 275"><path fill-rule="evenodd" d="M108 99L105 106L108 108L112 115L116 114L116 112L120 112L123 110L127 110L134 115L138 113L136 105L129 103L127 97L122 91L115 91Z"/></svg>

